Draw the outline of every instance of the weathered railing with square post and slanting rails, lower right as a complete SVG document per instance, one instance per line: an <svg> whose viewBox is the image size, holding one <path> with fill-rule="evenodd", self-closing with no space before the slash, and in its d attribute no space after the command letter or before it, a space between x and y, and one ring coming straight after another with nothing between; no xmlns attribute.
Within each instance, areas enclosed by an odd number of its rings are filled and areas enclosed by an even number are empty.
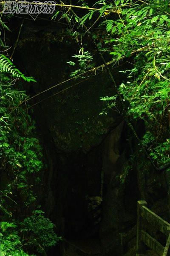
<svg viewBox="0 0 170 256"><path fill-rule="evenodd" d="M148 234L142 227L142 219L167 237L165 247ZM160 256L170 256L170 224L147 208L146 201L137 202L136 256L144 255L143 243Z"/></svg>

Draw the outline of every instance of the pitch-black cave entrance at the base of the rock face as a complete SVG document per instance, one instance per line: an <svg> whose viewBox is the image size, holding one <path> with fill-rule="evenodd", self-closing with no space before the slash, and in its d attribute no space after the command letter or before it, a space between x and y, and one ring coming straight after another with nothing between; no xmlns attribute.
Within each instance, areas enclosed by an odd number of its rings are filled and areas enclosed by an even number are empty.
<svg viewBox="0 0 170 256"><path fill-rule="evenodd" d="M102 217L100 152L99 148L94 148L88 154L72 157L63 210L64 236L68 240L89 239L99 234Z"/></svg>

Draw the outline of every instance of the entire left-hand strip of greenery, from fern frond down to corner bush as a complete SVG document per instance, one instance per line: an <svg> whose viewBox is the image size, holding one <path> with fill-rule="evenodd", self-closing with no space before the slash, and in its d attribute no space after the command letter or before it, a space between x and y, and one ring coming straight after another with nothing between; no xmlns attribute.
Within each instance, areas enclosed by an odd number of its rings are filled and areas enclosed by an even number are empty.
<svg viewBox="0 0 170 256"><path fill-rule="evenodd" d="M1 23L3 23L1 21ZM5 29L6 27L3 26ZM1 244L2 256L46 255L47 247L59 241L54 224L36 206L34 186L40 182L42 148L36 138L35 122L28 114L28 96L22 83L35 81L17 70L4 55L0 56L0 159L1 159ZM34 204L33 204L34 203Z"/></svg>

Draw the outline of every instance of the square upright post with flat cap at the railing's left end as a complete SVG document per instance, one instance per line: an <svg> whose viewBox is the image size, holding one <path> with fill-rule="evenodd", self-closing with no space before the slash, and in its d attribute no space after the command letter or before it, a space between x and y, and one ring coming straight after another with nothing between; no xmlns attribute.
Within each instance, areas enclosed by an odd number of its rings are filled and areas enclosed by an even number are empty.
<svg viewBox="0 0 170 256"><path fill-rule="evenodd" d="M142 253L142 242L141 242L141 209L142 206L147 207L146 201L137 201L137 230L136 230L136 256L139 256Z"/></svg>

